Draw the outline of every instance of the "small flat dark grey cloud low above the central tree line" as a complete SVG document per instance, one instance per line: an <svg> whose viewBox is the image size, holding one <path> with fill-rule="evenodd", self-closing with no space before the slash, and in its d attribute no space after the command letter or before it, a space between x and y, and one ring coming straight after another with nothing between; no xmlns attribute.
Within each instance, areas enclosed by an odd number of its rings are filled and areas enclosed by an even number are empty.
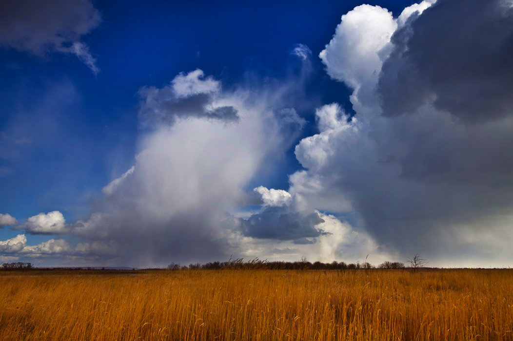
<svg viewBox="0 0 513 341"><path fill-rule="evenodd" d="M315 228L315 225L324 223L318 213L303 215L290 212L286 207L267 207L247 220L241 219L241 223L244 234L254 238L304 240L303 238L319 237L324 233Z"/></svg>

